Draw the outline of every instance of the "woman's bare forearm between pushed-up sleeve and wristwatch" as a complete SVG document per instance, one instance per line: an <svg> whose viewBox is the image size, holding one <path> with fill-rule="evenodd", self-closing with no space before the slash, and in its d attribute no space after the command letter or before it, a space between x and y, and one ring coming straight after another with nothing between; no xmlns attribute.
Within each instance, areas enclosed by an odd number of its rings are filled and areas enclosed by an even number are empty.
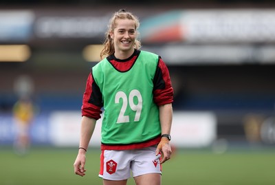
<svg viewBox="0 0 275 185"><path fill-rule="evenodd" d="M162 127L162 134L170 134L173 119L172 104L159 106L159 120Z"/></svg>

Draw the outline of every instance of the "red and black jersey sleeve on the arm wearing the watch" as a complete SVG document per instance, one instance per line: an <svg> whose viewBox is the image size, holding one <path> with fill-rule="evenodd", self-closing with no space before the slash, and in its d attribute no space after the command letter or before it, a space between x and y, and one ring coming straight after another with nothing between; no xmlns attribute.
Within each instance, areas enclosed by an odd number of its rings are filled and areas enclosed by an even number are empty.
<svg viewBox="0 0 275 185"><path fill-rule="evenodd" d="M153 84L153 95L156 105L165 105L173 102L174 91L171 84L168 68L160 57L155 72Z"/></svg>

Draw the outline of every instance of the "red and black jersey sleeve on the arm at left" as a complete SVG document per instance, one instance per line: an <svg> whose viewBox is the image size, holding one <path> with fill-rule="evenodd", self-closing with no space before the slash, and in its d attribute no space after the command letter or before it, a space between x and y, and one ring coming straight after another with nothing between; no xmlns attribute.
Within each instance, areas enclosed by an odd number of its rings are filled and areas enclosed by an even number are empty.
<svg viewBox="0 0 275 185"><path fill-rule="evenodd" d="M82 116L87 116L98 120L101 118L100 113L102 113L102 106L101 91L94 81L92 73L90 73L87 79L86 89L83 94L83 105L81 107Z"/></svg>

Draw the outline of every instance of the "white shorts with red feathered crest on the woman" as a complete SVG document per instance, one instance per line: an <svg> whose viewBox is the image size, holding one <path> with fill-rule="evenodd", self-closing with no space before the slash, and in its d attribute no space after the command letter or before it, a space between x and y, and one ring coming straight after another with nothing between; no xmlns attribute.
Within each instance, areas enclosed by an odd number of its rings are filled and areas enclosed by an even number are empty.
<svg viewBox="0 0 275 185"><path fill-rule="evenodd" d="M109 180L123 180L147 173L162 174L161 155L155 155L156 146L144 149L109 151L100 155L99 177Z"/></svg>

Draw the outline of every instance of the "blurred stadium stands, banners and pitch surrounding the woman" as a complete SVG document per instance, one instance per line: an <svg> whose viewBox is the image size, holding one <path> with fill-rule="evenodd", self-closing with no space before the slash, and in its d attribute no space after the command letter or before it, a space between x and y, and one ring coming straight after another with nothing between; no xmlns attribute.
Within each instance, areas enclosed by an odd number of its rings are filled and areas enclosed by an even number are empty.
<svg viewBox="0 0 275 185"><path fill-rule="evenodd" d="M164 184L275 184L275 2L267 0L1 1L0 184L82 183L71 177L82 96L121 8L140 18L142 50L162 56L175 89L177 152ZM25 157L12 150L20 94L38 110ZM93 173L99 131L100 121Z"/></svg>

